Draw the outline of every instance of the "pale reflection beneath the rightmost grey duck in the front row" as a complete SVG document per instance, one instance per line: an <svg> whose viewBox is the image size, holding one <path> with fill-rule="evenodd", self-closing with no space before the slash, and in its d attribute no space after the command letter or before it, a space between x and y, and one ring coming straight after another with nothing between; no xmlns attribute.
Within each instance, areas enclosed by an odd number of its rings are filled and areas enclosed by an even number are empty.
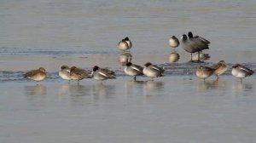
<svg viewBox="0 0 256 143"><path fill-rule="evenodd" d="M242 83L242 82L234 82L232 85L232 93L233 94L241 94L244 91L253 92L253 84L252 83Z"/></svg>

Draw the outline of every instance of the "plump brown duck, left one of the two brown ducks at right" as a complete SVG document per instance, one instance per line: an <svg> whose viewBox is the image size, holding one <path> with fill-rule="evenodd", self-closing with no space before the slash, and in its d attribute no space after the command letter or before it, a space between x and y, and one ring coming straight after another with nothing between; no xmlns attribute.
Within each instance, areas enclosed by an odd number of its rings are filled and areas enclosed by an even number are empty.
<svg viewBox="0 0 256 143"><path fill-rule="evenodd" d="M207 77L212 76L215 70L208 66L197 66L195 70L195 74L197 77L206 80Z"/></svg>

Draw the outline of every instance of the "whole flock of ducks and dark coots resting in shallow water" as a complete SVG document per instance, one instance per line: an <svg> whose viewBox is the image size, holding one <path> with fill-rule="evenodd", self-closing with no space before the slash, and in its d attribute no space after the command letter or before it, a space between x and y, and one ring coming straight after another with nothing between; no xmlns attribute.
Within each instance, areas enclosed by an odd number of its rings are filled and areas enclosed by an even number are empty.
<svg viewBox="0 0 256 143"><path fill-rule="evenodd" d="M175 36L170 37L168 42L170 47L172 47L173 49L177 48L180 44L179 40ZM200 36L193 36L193 33L191 31L189 31L188 36L183 34L183 36L181 37L181 45L185 51L191 54L191 60L200 61L201 59L209 58L208 54L201 53L202 50L209 49L209 44L210 42L207 39ZM118 48L122 51L130 50L131 47L132 43L129 37L125 37L118 43ZM195 75L205 80L207 77L210 77L214 74L216 75L218 80L218 77L227 70L228 67L225 61L220 60L217 64L214 64L212 66L197 66L195 70ZM162 77L165 70L162 67L153 65L150 62L144 64L143 67L132 64L128 61L125 63L124 72L126 75L133 77L133 79L136 81L137 76L142 75L151 77L152 80L154 79L154 77ZM252 70L248 69L245 66L241 66L240 64L233 65L231 73L234 77L240 78L241 80L244 77L253 75ZM78 83L84 78L94 78L98 81L116 78L116 75L113 71L109 70L108 68L101 68L99 66L94 66L92 72L88 72L76 66L69 67L63 65L61 66L61 69L59 71L59 76L62 79L68 81L77 80ZM26 72L24 77L31 78L36 82L40 82L46 78L46 71L44 67L40 67L37 70Z"/></svg>

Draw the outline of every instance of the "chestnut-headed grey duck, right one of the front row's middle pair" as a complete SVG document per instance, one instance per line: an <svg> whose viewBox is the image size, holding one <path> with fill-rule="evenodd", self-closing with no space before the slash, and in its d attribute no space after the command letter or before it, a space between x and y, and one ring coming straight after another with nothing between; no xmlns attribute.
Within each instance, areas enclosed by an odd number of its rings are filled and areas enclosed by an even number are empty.
<svg viewBox="0 0 256 143"><path fill-rule="evenodd" d="M152 80L154 80L154 77L162 77L164 72L163 68L152 65L150 62L147 62L143 68L144 75L151 77Z"/></svg>

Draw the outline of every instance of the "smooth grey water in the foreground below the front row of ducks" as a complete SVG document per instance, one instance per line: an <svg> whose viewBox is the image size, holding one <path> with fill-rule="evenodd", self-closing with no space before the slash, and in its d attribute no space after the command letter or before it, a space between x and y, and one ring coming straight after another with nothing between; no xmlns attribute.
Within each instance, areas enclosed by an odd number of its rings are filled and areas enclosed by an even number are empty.
<svg viewBox="0 0 256 143"><path fill-rule="evenodd" d="M153 82L84 80L79 85L4 83L0 140L253 142L254 81L224 76L204 83L183 76Z"/></svg>

